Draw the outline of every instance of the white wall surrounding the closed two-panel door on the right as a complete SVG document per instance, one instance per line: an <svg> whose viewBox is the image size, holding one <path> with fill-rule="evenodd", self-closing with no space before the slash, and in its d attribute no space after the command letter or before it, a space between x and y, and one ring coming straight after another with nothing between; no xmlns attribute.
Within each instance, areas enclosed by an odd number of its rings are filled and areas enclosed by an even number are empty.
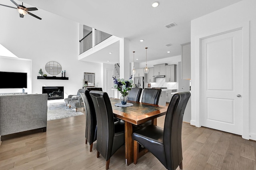
<svg viewBox="0 0 256 170"><path fill-rule="evenodd" d="M191 21L191 89L192 89L192 122L196 121L196 106L200 105L199 95L200 78L198 68L200 66L198 39L203 36L210 36L216 32L224 32L234 28L239 28L243 24L248 24L250 29L249 42L249 132L248 138L256 140L256 1L243 0L211 14L202 16ZM244 42L246 43L246 42ZM241 63L242 64L242 63ZM242 80L241 80L242 81ZM241 120L242 121L242 120Z"/></svg>

